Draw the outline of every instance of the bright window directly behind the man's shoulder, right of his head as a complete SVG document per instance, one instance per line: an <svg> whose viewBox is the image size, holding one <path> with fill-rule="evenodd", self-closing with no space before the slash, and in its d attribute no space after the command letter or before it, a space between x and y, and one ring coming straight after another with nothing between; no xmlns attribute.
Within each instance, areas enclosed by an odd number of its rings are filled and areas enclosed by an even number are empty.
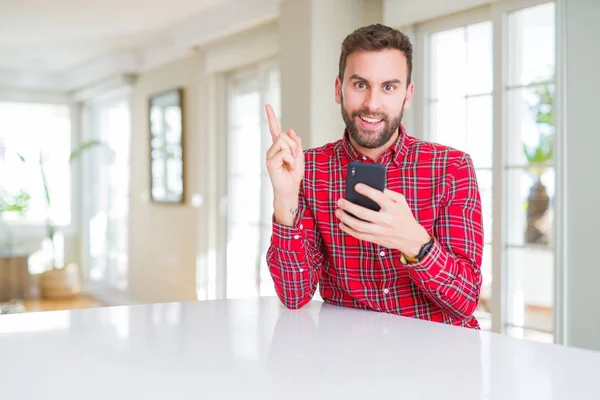
<svg viewBox="0 0 600 400"><path fill-rule="evenodd" d="M493 83L491 21L431 34L429 138L469 153L477 171L485 240L478 316L487 326L492 289Z"/></svg>

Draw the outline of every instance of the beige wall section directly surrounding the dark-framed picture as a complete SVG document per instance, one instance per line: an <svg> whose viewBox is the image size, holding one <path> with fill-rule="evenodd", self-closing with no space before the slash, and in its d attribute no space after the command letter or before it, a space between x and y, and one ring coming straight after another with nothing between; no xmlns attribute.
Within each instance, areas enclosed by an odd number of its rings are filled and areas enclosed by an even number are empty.
<svg viewBox="0 0 600 400"><path fill-rule="evenodd" d="M203 90L202 57L190 56L142 74L132 93L130 295L135 302L193 300L196 296L195 221L198 209L190 205L199 191L202 157L196 150L202 134L199 124ZM156 92L184 87L185 203L150 202L148 97Z"/></svg>

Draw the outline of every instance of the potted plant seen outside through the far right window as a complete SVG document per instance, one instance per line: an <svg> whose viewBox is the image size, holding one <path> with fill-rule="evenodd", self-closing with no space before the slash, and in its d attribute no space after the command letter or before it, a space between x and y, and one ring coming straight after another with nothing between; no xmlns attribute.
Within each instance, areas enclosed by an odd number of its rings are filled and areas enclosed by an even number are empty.
<svg viewBox="0 0 600 400"><path fill-rule="evenodd" d="M534 177L526 203L525 243L548 243L548 229L544 226L550 207L550 197L542 183L544 168L554 157L553 93L549 85L535 89L536 103L532 106L538 131L534 146L524 144L523 151Z"/></svg>

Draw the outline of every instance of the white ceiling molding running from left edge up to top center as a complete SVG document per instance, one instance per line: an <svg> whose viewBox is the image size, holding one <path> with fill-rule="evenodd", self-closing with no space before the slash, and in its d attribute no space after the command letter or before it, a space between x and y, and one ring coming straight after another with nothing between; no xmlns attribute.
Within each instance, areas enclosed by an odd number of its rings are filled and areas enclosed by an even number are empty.
<svg viewBox="0 0 600 400"><path fill-rule="evenodd" d="M74 92L120 74L158 68L196 48L277 18L280 0L230 0L149 35L141 46L63 72L2 71L0 88Z"/></svg>

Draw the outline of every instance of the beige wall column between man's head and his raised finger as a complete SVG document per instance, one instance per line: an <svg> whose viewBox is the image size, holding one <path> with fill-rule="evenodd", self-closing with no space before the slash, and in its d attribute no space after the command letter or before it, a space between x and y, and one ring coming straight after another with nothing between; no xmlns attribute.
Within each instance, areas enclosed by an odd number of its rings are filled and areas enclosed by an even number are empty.
<svg viewBox="0 0 600 400"><path fill-rule="evenodd" d="M282 128L305 147L340 139L344 122L335 78L344 38L382 22L381 0L283 0L280 12Z"/></svg>

